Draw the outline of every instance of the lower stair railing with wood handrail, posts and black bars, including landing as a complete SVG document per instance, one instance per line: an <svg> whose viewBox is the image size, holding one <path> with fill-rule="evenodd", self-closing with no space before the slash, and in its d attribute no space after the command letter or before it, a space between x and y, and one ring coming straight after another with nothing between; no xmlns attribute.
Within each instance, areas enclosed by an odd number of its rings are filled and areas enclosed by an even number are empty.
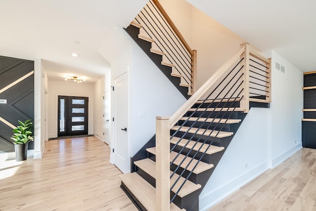
<svg viewBox="0 0 316 211"><path fill-rule="evenodd" d="M167 196L166 192L159 192L158 189L156 190L157 196L161 195L168 198L170 197L170 191L175 186L177 186L177 190L173 191L174 195L172 196L169 203L171 203L175 199L177 193L181 190L184 183L189 179L194 169L196 169L198 163L206 154L211 144L216 140L217 137L220 136L222 129L225 127L228 119L231 117L234 111L243 111L247 113L249 111L249 101L270 102L270 63L270 60L265 59L261 55L249 50L248 43L243 43L241 44L241 48L238 50L238 52L231 59L229 59L214 75L212 75L199 89L197 89L197 91L170 118L158 118L159 120L163 119L164 124L169 123L169 127L156 127L156 137L158 137L156 138L156 149L159 148L158 151L161 151L162 148L164 148L164 150L168 150L168 155L166 157L167 159L165 159L163 162L164 166L166 165L166 163L168 163L169 166L166 167L166 169L158 169L160 167L158 167L157 164L156 178L158 178L158 176L162 176L162 174L158 175L158 172L170 172L170 166L172 166L172 164L177 160L180 154L184 154L185 157L180 161L180 164L176 165L178 167L176 167L174 172L171 173L171 176L169 176L168 173L165 173L163 174L164 178L159 178L160 181L158 183L156 180L156 188L158 187L158 185L163 186L163 184L164 187L170 187L169 179L172 176L178 176L176 181L173 184L171 184L171 188L168 189L167 192L169 193ZM199 103L199 105L197 106L197 108L193 108L193 105L196 103ZM189 117L187 117L187 119L184 120L180 126L178 125L175 132L172 133L170 136L170 129L174 127L188 111L191 112ZM219 116L220 112L222 112L221 116ZM191 125L189 128L185 127L187 122L193 116L198 116L196 122L193 123L193 125ZM192 127L194 127L197 124L197 122L199 122L199 126L196 127L196 131L190 133L191 136L188 139L188 141L184 144L184 146L181 146L182 148L180 150L177 149L178 154L171 161L171 163L169 163L169 153L172 150L174 150L176 146L179 146L178 144L180 143L180 141L183 140L183 138L186 135L188 136L189 131L192 129ZM180 134L177 135L177 137L181 138L170 149L169 140L172 139L177 133ZM161 134L165 134L163 139L161 139ZM195 137L197 134L200 135L197 142L192 146L192 148L187 153L184 153L183 150L190 143L190 141L193 140L193 137ZM200 140L202 136L205 136L206 138L204 140ZM200 142L201 145L198 147L198 149L194 149L197 148L198 142ZM209 145L205 145L206 142L208 142ZM205 146L207 146L206 149ZM197 162L193 163L194 159L197 157L197 153L203 147L204 152L198 160L196 159ZM196 153L193 152L193 149L194 151L196 151ZM162 154L158 155L158 151L156 152L156 156L161 157ZM165 152L163 153L165 154ZM183 164L185 159L188 158L190 159L189 163L186 165L185 168L181 169L181 164ZM161 164L159 164L159 166L161 166ZM191 166L190 173L186 174L185 171L189 168L189 166ZM179 175L175 175L175 172ZM167 178L167 176L169 177ZM181 176L185 177L185 180L182 182L182 184L176 185ZM162 190L162 188L159 188L159 190ZM157 205L161 203L166 203L165 201L157 201Z"/></svg>

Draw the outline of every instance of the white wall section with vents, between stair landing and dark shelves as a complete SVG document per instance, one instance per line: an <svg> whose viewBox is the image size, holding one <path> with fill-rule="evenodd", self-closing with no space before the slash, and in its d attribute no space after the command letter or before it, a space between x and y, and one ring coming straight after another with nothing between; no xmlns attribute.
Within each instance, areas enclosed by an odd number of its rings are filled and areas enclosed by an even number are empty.
<svg viewBox="0 0 316 211"><path fill-rule="evenodd" d="M276 69L276 62L285 68ZM302 146L303 73L272 50L271 167Z"/></svg>

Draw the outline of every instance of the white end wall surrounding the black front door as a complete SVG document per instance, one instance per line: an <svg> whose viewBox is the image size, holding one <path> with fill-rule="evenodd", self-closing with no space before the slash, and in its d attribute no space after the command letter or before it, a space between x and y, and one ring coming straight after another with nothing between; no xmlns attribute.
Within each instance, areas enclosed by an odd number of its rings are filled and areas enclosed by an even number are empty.
<svg viewBox="0 0 316 211"><path fill-rule="evenodd" d="M73 82L49 81L49 106L48 106L48 135L50 138L57 137L57 111L58 95L89 97L88 134L93 133L93 85L78 84Z"/></svg>

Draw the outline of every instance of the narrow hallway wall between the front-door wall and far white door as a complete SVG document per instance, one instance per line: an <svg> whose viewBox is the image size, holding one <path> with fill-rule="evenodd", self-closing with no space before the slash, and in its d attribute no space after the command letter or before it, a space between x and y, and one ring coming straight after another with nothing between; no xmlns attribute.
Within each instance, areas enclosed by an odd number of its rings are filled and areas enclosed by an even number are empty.
<svg viewBox="0 0 316 211"><path fill-rule="evenodd" d="M105 77L93 84L93 134L103 141L103 93Z"/></svg>

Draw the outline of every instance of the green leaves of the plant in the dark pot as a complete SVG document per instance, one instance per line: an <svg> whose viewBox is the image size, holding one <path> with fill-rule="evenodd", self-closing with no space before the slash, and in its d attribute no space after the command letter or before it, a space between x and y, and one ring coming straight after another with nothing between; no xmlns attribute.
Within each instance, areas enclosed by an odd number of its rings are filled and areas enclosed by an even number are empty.
<svg viewBox="0 0 316 211"><path fill-rule="evenodd" d="M11 137L12 140L14 140L14 144L26 144L30 141L34 140L34 136L31 136L32 134L32 125L33 123L31 120L27 120L24 123L21 121L18 121L20 126L15 128L12 132L13 135Z"/></svg>

